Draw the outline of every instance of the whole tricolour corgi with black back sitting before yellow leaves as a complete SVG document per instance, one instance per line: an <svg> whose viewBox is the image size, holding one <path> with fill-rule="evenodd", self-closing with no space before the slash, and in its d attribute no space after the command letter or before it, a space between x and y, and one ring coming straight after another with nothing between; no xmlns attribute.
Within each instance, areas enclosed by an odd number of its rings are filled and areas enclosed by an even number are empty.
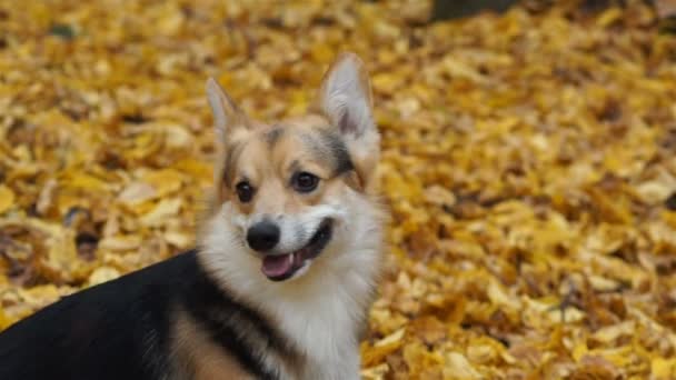
<svg viewBox="0 0 676 380"><path fill-rule="evenodd" d="M344 53L304 117L264 123L207 82L218 139L197 248L0 333L0 379L359 378L380 271L379 133Z"/></svg>

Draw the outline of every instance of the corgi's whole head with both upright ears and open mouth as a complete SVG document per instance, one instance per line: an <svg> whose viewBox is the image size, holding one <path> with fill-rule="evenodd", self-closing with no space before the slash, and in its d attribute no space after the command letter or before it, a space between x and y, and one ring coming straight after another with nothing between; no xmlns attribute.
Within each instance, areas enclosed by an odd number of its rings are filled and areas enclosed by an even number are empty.
<svg viewBox="0 0 676 380"><path fill-rule="evenodd" d="M379 134L355 54L331 66L305 117L255 121L212 79L207 96L219 137L216 212L202 241L212 257L284 281L311 271L316 260L358 250L358 240L372 244L365 234L378 229L371 196ZM379 239L379 229L370 232Z"/></svg>

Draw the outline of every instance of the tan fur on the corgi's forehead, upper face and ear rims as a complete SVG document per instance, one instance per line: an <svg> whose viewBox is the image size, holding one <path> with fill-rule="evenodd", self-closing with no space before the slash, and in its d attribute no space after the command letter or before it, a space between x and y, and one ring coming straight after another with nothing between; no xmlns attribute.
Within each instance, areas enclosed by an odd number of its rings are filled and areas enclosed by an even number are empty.
<svg viewBox="0 0 676 380"><path fill-rule="evenodd" d="M298 197L298 194L286 186L288 180L289 163L292 160L301 161L305 164L304 170L310 171L314 174L319 176L321 187L336 188L339 186L348 186L357 191L364 192L365 194L377 193L377 180L376 180L376 166L379 160L379 154L366 154L359 157L350 157L352 164L355 166L354 172L349 172L342 176L336 181L329 176L329 169L321 162L312 161L308 159L310 156L307 152L307 144L304 144L298 140L299 134L314 134L317 133L317 129L327 128L330 126L330 120L327 114L321 110L321 102L324 88L327 86L328 78L334 73L339 63L344 60L352 61L359 68L359 82L361 88L365 90L369 107L372 107L372 94L368 74L364 70L362 62L354 54L339 54L335 63L327 70L324 76L321 89L317 99L310 104L308 113L300 117L295 117L286 120L281 120L275 126L268 124L258 120L250 119L246 116L230 99L225 91L221 101L223 102L223 109L229 119L232 120L231 129L227 137L222 137L217 148L217 162L216 162L216 180L220 182L217 186L217 199L216 203L223 203L228 200L235 200L238 203L240 210L245 213L250 213L257 208L266 209L268 212L292 212L299 210L304 204L314 206L322 201L322 196L326 191L319 189L312 193L311 197ZM277 142L272 148L266 146L266 133L274 128L282 129L284 136L280 138L281 141ZM288 133L291 131L292 133ZM295 138L296 137L296 138ZM245 144L242 151L235 161L231 162L232 167L236 168L237 172L232 173L232 180L229 182L223 181L223 170L226 168L226 161L228 154L232 153L232 148L236 146ZM348 149L350 147L348 146ZM242 204L237 201L235 196L235 186L241 180L241 172L246 172L249 181L255 182L257 187L257 197L254 202ZM262 179L277 178L276 183L256 183L262 181ZM281 180L281 181L279 181ZM325 184L324 180L330 180L330 184ZM256 206L258 199L267 199L268 194L274 194L272 199L276 204L259 204ZM235 196L235 197L233 197Z"/></svg>

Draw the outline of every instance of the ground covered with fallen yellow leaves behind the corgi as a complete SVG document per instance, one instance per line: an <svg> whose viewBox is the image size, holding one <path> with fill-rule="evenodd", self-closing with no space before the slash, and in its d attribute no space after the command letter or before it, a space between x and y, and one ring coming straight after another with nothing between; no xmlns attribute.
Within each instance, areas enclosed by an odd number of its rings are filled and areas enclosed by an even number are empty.
<svg viewBox="0 0 676 380"><path fill-rule="evenodd" d="M271 120L352 50L392 214L364 376L676 378L676 39L545 3L0 2L0 329L193 244L208 76Z"/></svg>

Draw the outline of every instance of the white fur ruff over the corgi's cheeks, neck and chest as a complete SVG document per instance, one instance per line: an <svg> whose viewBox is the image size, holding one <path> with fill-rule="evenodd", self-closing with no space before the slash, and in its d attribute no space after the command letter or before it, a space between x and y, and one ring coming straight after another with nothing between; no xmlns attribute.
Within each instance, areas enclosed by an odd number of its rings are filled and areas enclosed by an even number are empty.
<svg viewBox="0 0 676 380"><path fill-rule="evenodd" d="M251 304L296 347L306 362L282 370L281 378L358 379L359 333L367 321L380 267L381 223L359 213L341 228L351 239L331 247L298 279L272 282L260 272L260 260L235 243L228 210L209 219L200 237L200 260L221 287ZM284 368L275 356L270 367ZM288 367L288 366L286 366Z"/></svg>

